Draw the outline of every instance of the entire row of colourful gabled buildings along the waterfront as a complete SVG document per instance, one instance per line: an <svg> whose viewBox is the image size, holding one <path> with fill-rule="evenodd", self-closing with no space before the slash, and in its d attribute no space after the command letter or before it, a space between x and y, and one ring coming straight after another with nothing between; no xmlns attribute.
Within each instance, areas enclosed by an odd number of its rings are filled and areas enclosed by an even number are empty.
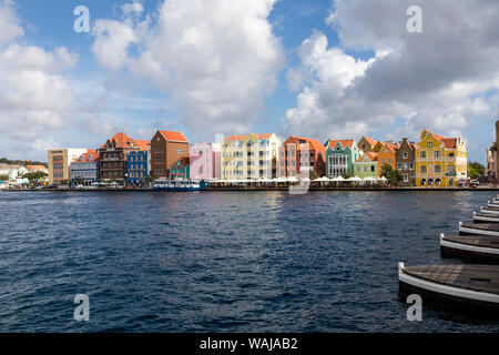
<svg viewBox="0 0 499 355"><path fill-rule="evenodd" d="M55 149L49 155L49 183L92 184L112 181L146 185L154 179L254 181L317 176L380 178L384 166L398 170L400 185L455 186L467 179L461 138L424 130L417 142L377 141L363 136L316 139L274 133L231 135L217 143L190 144L182 132L157 130L151 141L124 133L99 149Z"/></svg>

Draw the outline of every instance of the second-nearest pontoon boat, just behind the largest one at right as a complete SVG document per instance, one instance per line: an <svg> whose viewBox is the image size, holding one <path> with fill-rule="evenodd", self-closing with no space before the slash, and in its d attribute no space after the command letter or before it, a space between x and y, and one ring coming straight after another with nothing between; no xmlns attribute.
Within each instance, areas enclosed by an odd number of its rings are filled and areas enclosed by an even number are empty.
<svg viewBox="0 0 499 355"><path fill-rule="evenodd" d="M499 239L489 235L445 236L440 234L440 254L486 264L499 263Z"/></svg>

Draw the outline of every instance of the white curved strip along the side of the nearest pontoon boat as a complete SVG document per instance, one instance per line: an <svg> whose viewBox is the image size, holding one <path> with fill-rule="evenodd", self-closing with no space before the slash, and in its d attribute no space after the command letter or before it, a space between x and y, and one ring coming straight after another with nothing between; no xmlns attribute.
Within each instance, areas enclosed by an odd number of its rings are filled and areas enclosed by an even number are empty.
<svg viewBox="0 0 499 355"><path fill-rule="evenodd" d="M435 282L429 282L426 280L407 275L406 273L404 273L404 263L398 263L398 280L406 284L436 293L441 293L466 300L482 301L499 304L499 295L495 295L487 292L478 292L472 290L440 285Z"/></svg>

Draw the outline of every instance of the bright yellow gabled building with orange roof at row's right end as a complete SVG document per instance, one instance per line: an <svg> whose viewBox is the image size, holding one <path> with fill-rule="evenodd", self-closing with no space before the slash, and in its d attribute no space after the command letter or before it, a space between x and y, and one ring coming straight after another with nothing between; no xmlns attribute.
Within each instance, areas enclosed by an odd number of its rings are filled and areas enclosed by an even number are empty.
<svg viewBox="0 0 499 355"><path fill-rule="evenodd" d="M468 178L468 155L461 138L424 130L416 144L416 185L457 186Z"/></svg>

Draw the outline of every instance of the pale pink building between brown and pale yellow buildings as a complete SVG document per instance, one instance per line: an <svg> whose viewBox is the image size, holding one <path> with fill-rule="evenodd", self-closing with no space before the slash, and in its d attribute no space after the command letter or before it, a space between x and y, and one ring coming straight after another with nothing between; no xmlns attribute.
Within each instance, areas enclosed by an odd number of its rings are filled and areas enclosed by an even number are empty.
<svg viewBox="0 0 499 355"><path fill-rule="evenodd" d="M189 154L191 156L191 179L221 178L221 145L218 143L192 144Z"/></svg>

